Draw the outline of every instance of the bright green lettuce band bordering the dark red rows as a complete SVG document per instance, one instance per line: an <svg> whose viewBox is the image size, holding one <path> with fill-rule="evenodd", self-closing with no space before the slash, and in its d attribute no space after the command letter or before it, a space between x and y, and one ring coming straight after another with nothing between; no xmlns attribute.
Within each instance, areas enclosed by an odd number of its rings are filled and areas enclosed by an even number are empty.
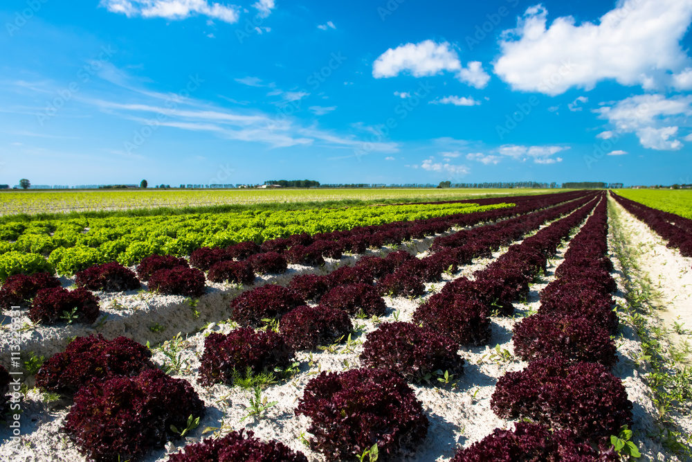
<svg viewBox="0 0 692 462"><path fill-rule="evenodd" d="M518 197L515 203L529 208L537 204L549 206L581 194ZM525 208L509 211L507 207L511 204L498 199L479 199L478 202L482 205L440 203L173 217L83 218L29 224L10 222L0 226L0 280L12 272L26 272L27 269L55 269L59 274L71 275L99 263L118 261L132 265L154 254L188 256L199 247L230 247L243 242L259 244L305 234L316 236L318 240L339 240L345 250L351 251L353 246L379 247L382 244L363 238L360 241L364 242L345 242L347 236L343 231L350 231L349 236L367 236L384 231L372 226L410 227L432 217L460 217L460 225L466 226L478 220L496 220L526 211ZM504 213L481 213L498 208L507 209ZM462 215L473 218L463 220ZM420 233L421 229L412 231ZM388 239L386 235L382 237ZM45 256L48 256L47 261Z"/></svg>

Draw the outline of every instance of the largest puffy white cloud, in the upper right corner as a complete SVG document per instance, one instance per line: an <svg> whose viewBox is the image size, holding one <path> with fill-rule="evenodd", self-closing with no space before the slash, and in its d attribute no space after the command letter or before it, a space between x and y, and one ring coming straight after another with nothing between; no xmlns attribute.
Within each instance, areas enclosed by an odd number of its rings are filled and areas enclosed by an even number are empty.
<svg viewBox="0 0 692 462"><path fill-rule="evenodd" d="M661 87L690 64L680 40L691 19L692 0L619 0L597 24L568 16L547 27L547 10L534 6L503 33L494 71L515 90L549 95L611 79ZM684 86L690 77L683 71L673 80Z"/></svg>

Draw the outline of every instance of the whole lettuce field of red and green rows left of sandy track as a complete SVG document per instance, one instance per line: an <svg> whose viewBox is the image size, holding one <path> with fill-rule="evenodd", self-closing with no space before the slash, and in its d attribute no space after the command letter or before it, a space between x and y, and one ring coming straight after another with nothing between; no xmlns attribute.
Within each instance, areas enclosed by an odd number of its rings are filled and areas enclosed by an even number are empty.
<svg viewBox="0 0 692 462"><path fill-rule="evenodd" d="M0 460L688 460L616 212L665 220L599 191L6 220Z"/></svg>

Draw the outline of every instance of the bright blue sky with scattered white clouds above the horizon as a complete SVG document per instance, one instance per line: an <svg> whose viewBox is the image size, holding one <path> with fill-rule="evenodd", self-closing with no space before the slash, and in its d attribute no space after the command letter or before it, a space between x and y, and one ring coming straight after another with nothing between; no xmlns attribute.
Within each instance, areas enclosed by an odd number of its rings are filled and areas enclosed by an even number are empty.
<svg viewBox="0 0 692 462"><path fill-rule="evenodd" d="M692 183L692 0L6 0L0 183Z"/></svg>

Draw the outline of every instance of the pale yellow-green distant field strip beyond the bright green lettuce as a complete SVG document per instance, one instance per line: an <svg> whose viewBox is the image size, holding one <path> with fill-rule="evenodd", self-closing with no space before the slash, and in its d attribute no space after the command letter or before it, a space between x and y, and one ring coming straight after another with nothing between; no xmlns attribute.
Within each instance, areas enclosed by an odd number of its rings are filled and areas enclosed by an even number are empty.
<svg viewBox="0 0 692 462"><path fill-rule="evenodd" d="M293 204L300 202L431 202L491 195L545 194L540 189L301 189L301 190L136 190L7 191L0 193L0 216L20 213L122 211L219 205Z"/></svg>

